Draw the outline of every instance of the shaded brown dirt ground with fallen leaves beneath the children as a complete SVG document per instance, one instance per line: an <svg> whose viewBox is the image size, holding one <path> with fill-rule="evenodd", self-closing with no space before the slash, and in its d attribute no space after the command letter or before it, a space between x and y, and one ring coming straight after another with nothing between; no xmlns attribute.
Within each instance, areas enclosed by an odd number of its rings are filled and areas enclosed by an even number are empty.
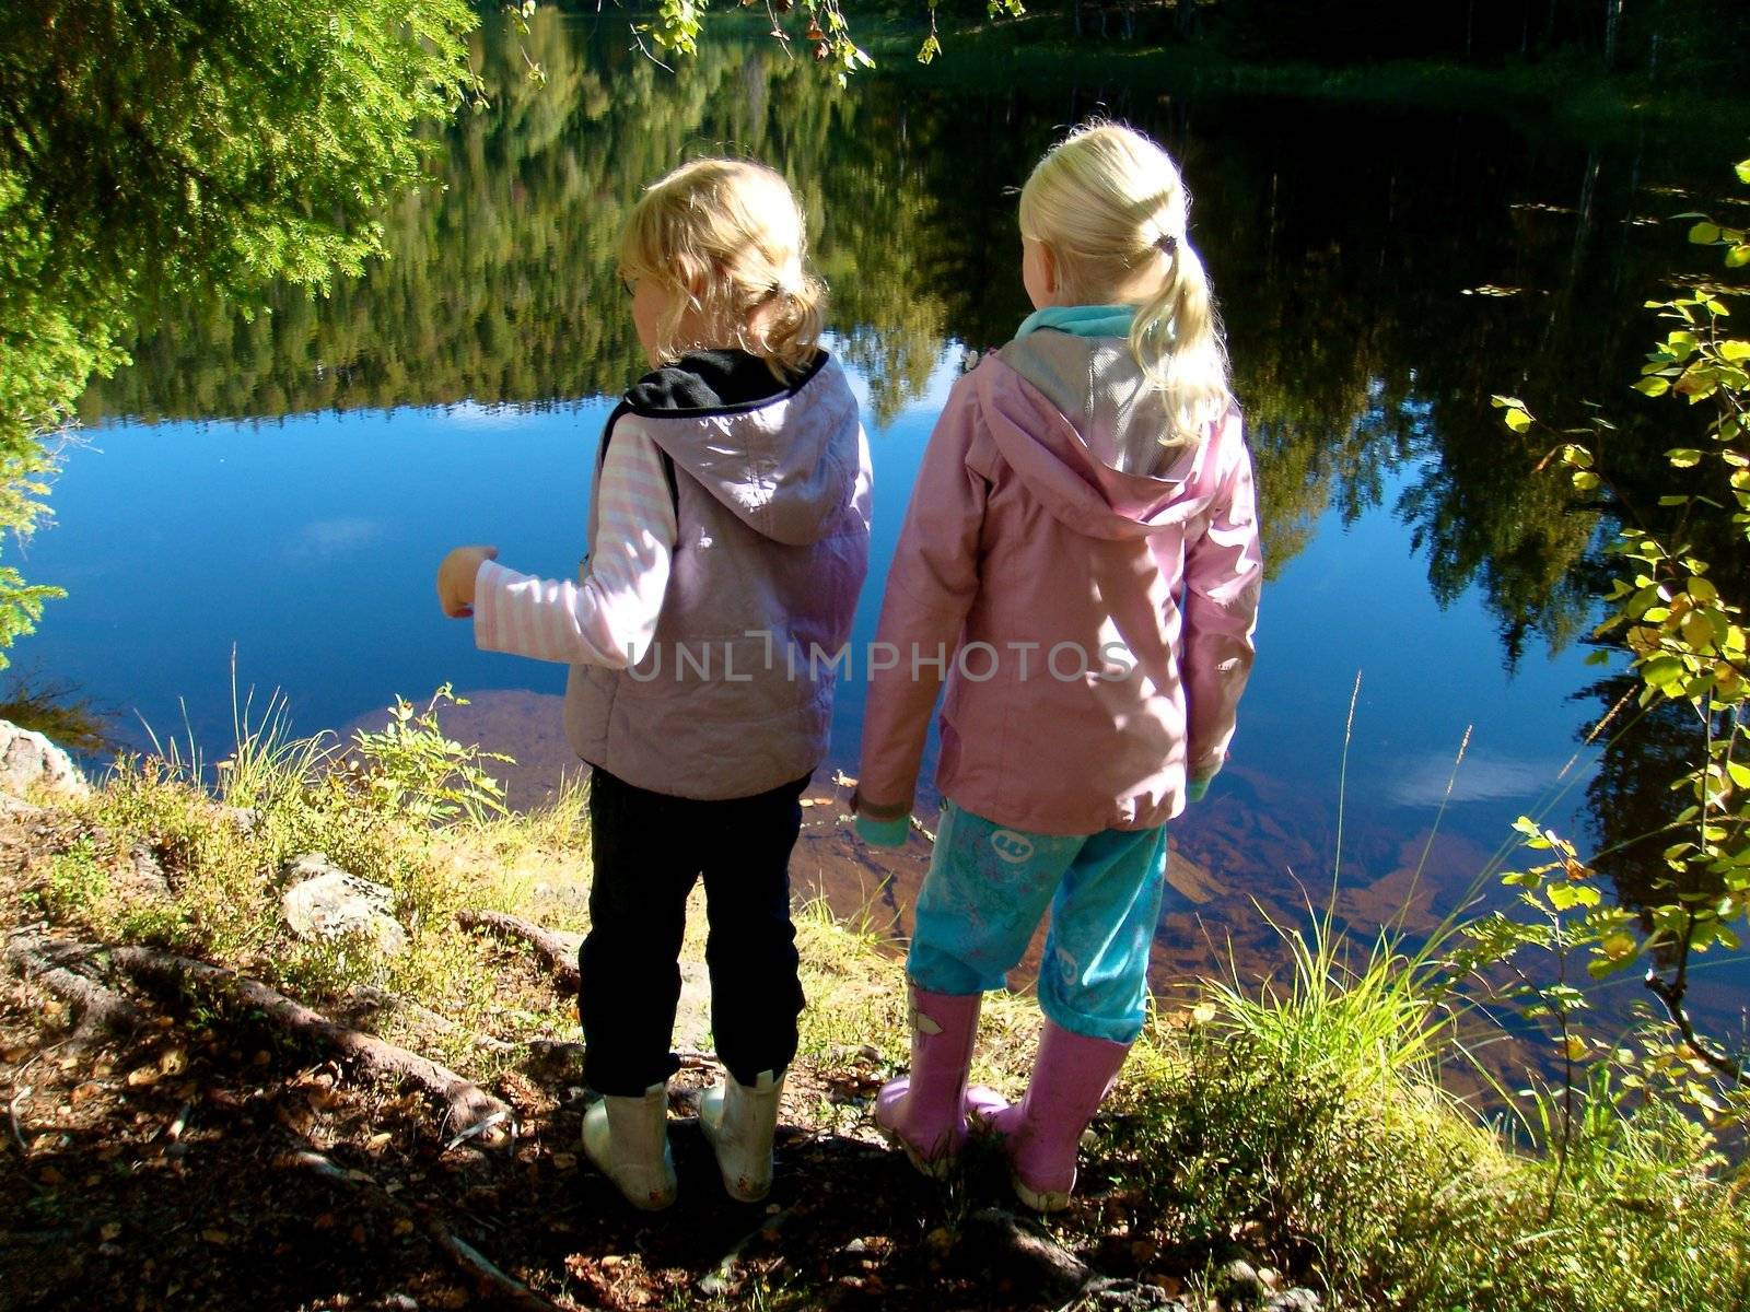
<svg viewBox="0 0 1750 1312"><path fill-rule="evenodd" d="M564 1050L497 1083L520 1135L478 1149L448 1146L420 1095L357 1086L247 1018L161 1016L126 1046L82 1051L44 1029L52 1011L18 981L0 1006L5 1309L514 1305L444 1237L562 1309L1062 1303L968 1240L966 1216L1008 1198L999 1165L975 1163L952 1190L919 1177L870 1134L873 1079L854 1067L786 1090L763 1205L723 1191L686 1116L710 1071L682 1071L681 1200L649 1216L583 1158ZM1088 1179L1076 1205L1115 1202ZM1136 1272L1124 1246L1092 1256Z"/></svg>

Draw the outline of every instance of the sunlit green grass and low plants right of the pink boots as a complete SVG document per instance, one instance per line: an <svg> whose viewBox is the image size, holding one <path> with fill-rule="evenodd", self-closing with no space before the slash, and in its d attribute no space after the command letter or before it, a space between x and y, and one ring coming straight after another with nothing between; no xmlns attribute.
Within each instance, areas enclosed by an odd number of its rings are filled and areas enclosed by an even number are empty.
<svg viewBox="0 0 1750 1312"><path fill-rule="evenodd" d="M1242 1237L1339 1309L1750 1307L1745 1176L1703 1127L1605 1081L1564 1162L1517 1146L1444 1083L1466 1058L1424 959L1281 932L1286 980L1144 1034L1111 1137L1132 1232Z"/></svg>

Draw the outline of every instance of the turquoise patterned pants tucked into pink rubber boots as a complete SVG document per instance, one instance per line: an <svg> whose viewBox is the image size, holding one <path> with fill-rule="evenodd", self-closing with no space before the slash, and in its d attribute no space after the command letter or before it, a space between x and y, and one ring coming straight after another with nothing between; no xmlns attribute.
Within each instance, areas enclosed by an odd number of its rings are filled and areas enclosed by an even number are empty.
<svg viewBox="0 0 1750 1312"><path fill-rule="evenodd" d="M1166 826L1034 834L947 801L906 973L934 994L1001 988L1050 906L1040 1008L1074 1034L1132 1043L1166 873Z"/></svg>

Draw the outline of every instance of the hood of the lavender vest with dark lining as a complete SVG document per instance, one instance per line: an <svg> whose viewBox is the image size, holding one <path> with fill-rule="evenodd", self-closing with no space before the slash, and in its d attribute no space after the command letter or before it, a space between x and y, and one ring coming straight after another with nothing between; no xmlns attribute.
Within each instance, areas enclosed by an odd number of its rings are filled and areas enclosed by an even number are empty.
<svg viewBox="0 0 1750 1312"><path fill-rule="evenodd" d="M626 408L642 430L754 532L808 546L838 528L861 467L861 427L845 373L826 352L793 385L754 401L695 409L640 401L635 388Z"/></svg>

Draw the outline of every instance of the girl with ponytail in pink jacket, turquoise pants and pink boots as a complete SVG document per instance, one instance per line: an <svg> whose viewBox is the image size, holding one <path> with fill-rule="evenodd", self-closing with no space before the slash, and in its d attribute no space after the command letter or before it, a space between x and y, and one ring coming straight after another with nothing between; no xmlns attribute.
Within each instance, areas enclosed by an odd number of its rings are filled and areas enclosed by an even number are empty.
<svg viewBox="0 0 1750 1312"><path fill-rule="evenodd" d="M1167 154L1116 124L1020 194L1036 306L962 378L917 476L854 808L900 843L945 679L942 822L906 974L910 1076L877 1121L945 1176L968 1113L1015 1190L1066 1207L1076 1144L1143 1025L1166 824L1227 757L1262 577L1251 460ZM968 1090L984 990L1045 915L1022 1102Z"/></svg>

